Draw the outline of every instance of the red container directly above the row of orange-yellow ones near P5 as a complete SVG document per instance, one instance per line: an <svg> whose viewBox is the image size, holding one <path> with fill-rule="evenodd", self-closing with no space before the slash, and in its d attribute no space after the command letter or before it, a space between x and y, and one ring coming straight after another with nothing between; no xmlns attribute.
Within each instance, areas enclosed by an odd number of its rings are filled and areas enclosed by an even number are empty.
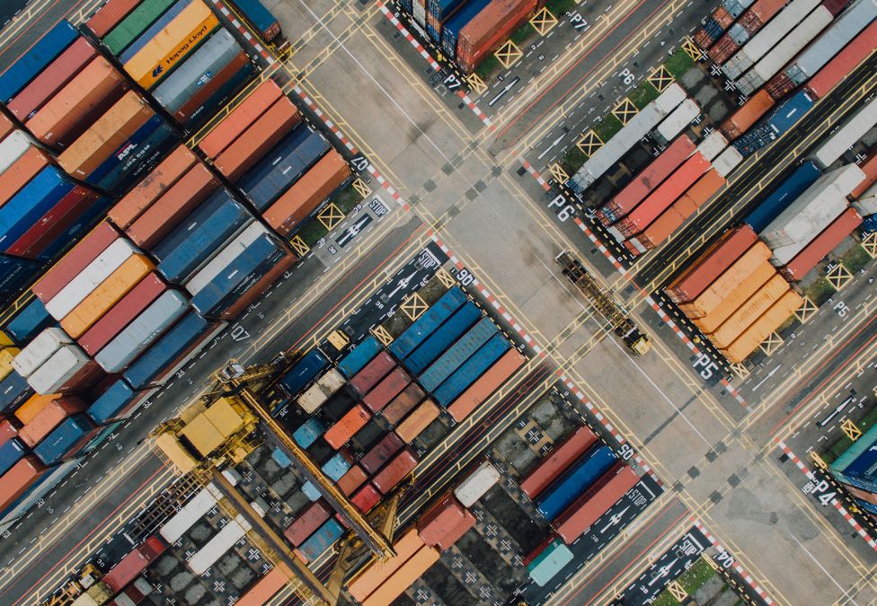
<svg viewBox="0 0 877 606"><path fill-rule="evenodd" d="M756 240L757 235L749 225L723 233L717 242L704 250L679 277L670 282L664 292L673 303L694 301L713 279L729 268Z"/></svg>

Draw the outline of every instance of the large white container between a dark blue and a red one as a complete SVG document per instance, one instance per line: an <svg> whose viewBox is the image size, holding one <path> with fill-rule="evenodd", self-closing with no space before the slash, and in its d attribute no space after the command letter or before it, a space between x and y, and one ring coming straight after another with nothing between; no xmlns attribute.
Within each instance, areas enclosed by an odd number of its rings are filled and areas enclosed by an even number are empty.
<svg viewBox="0 0 877 606"><path fill-rule="evenodd" d="M792 244L810 242L846 209L846 196L864 179L855 164L822 175L801 196L780 213L759 237L778 250ZM791 258L790 258L791 259Z"/></svg>

